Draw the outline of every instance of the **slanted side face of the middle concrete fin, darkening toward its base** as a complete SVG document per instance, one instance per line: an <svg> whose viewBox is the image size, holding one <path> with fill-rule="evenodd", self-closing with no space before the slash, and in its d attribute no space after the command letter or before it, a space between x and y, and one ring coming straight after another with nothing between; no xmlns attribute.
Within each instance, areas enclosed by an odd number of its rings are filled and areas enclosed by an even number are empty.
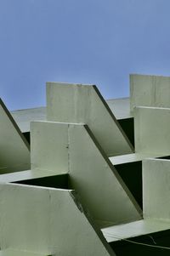
<svg viewBox="0 0 170 256"><path fill-rule="evenodd" d="M137 202L87 126L70 126L69 135L71 185L97 223L105 226L140 219Z"/></svg>

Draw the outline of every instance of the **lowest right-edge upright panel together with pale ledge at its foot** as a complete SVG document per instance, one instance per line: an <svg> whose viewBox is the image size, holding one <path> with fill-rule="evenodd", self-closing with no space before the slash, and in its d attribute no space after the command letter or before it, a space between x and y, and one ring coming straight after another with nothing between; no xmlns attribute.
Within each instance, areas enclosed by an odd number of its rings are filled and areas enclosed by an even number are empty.
<svg viewBox="0 0 170 256"><path fill-rule="evenodd" d="M102 229L107 242L116 242L170 229L170 160L143 161L144 219Z"/></svg>

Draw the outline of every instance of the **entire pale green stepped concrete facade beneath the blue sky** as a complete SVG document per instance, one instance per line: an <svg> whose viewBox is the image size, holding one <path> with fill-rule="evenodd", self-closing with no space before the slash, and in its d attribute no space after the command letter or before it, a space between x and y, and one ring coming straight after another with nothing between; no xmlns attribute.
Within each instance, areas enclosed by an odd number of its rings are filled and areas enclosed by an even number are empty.
<svg viewBox="0 0 170 256"><path fill-rule="evenodd" d="M129 111L60 82L47 113L0 102L0 256L167 255L169 81L131 75Z"/></svg>

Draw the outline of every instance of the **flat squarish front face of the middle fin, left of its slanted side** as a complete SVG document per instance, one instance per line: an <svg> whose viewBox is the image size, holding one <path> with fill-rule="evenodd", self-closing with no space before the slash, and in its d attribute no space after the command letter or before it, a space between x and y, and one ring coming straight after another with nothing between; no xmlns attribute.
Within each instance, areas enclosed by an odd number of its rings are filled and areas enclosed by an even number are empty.
<svg viewBox="0 0 170 256"><path fill-rule="evenodd" d="M34 122L31 122L31 170L68 173L69 124L58 123L48 129L49 122L36 123L34 126Z"/></svg>

